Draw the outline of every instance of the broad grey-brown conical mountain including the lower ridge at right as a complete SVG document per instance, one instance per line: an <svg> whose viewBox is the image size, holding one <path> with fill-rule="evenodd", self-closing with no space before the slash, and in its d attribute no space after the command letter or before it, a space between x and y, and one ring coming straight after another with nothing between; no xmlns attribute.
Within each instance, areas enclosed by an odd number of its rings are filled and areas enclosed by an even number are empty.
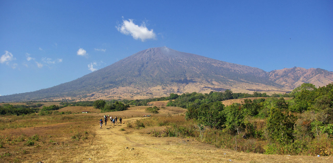
<svg viewBox="0 0 333 163"><path fill-rule="evenodd" d="M71 82L0 101L145 99L170 93L224 91L284 93L303 82L325 86L333 72L294 67L266 72L167 47L142 50Z"/></svg>

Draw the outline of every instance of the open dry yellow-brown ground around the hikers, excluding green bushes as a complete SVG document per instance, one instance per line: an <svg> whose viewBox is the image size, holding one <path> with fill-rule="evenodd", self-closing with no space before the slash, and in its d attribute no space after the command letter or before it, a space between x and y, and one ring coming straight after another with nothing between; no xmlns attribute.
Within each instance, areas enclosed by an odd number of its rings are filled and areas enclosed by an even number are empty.
<svg viewBox="0 0 333 163"><path fill-rule="evenodd" d="M100 129L98 119L105 113L92 113L92 121L67 122L58 124L39 125L20 129L2 130L0 135L20 135L32 136L38 133L42 140L36 142L34 146L5 145L0 149L0 154L10 150L14 154L20 154L13 161L0 157L0 162L23 162L36 163L215 163L215 162L236 162L236 163L257 163L257 162L292 162L292 163L329 163L333 162L332 157L316 156L287 156L287 155L264 155L255 153L236 152L228 149L215 148L214 146L200 143L193 138L177 137L151 137L149 132L153 129L163 129L164 127L146 127L134 129L127 127L129 122L152 118L142 117L145 107L133 107L123 112L112 112L117 117L124 117L124 124L110 122L103 124ZM184 110L176 107L167 107L160 116L170 114L183 114ZM106 113L111 114L111 113ZM135 117L140 115L140 117ZM133 116L133 117L132 117ZM72 135L75 133L87 132L87 139L73 141ZM85 136L85 134L83 134ZM82 137L83 137L82 136ZM56 142L68 142L50 144L50 140ZM43 143L42 143L43 142ZM127 148L128 147L128 148ZM26 153L26 154L21 154Z"/></svg>

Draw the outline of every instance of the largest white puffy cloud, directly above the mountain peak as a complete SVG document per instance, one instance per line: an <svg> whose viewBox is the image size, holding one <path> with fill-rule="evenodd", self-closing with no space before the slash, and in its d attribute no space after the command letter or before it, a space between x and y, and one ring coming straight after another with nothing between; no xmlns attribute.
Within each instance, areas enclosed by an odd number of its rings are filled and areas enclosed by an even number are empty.
<svg viewBox="0 0 333 163"><path fill-rule="evenodd" d="M155 39L156 34L153 29L149 30L146 27L145 22L143 22L140 26L133 23L133 19L123 20L123 24L119 24L116 26L119 32L132 35L134 39L141 39L144 42L146 39Z"/></svg>

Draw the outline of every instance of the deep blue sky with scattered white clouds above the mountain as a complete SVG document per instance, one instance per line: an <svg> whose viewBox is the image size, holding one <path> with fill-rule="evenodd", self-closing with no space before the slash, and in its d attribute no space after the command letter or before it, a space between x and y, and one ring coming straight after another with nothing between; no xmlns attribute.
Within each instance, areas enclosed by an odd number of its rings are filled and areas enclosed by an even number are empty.
<svg viewBox="0 0 333 163"><path fill-rule="evenodd" d="M265 71L333 71L333 1L0 0L0 95L49 88L151 47Z"/></svg>

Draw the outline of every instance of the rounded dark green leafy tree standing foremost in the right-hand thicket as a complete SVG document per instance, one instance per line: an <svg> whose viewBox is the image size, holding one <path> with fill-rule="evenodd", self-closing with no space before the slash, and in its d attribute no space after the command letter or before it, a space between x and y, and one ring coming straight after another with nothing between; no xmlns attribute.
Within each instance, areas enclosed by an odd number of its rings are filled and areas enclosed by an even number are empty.
<svg viewBox="0 0 333 163"><path fill-rule="evenodd" d="M294 140L295 117L283 114L278 108L271 108L267 117L266 127L268 137L280 143L290 143Z"/></svg>

